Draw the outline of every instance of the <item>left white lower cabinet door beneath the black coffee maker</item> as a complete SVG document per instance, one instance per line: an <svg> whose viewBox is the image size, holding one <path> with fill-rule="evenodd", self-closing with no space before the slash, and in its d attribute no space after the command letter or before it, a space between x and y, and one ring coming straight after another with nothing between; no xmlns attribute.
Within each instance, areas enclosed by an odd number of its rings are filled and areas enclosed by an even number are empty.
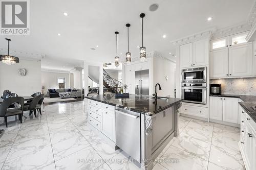
<svg viewBox="0 0 256 170"><path fill-rule="evenodd" d="M210 119L222 121L222 97L210 97Z"/></svg>

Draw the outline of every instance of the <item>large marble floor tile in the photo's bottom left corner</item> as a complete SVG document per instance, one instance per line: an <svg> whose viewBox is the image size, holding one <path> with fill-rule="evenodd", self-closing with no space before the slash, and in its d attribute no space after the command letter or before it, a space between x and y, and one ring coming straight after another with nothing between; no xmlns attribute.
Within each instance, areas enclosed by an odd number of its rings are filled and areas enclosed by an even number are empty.
<svg viewBox="0 0 256 170"><path fill-rule="evenodd" d="M44 169L54 163L51 146L26 154L16 159L6 160L2 170L5 169Z"/></svg>

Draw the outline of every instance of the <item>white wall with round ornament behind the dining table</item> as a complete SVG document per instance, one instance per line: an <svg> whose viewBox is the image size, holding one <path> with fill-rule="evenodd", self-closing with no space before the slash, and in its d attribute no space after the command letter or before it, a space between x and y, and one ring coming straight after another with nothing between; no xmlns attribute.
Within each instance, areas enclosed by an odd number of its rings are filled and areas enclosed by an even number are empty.
<svg viewBox="0 0 256 170"><path fill-rule="evenodd" d="M26 76L19 76L18 69L25 68ZM19 63L7 65L0 62L0 93L10 90L19 96L41 92L41 61L20 59Z"/></svg>

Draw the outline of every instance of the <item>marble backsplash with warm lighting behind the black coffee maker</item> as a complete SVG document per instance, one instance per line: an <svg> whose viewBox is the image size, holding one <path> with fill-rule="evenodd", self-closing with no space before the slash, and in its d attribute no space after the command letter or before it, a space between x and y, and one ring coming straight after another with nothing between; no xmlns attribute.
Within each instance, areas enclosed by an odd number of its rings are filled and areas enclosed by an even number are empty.
<svg viewBox="0 0 256 170"><path fill-rule="evenodd" d="M222 94L256 95L256 78L214 79L211 84L221 84Z"/></svg>

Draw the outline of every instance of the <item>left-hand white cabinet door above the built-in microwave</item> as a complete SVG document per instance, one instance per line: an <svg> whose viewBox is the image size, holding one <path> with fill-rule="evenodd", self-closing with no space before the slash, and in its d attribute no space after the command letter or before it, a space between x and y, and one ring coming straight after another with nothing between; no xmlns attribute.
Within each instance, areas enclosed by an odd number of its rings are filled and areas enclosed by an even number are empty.
<svg viewBox="0 0 256 170"><path fill-rule="evenodd" d="M193 66L193 42L180 45L180 67Z"/></svg>

